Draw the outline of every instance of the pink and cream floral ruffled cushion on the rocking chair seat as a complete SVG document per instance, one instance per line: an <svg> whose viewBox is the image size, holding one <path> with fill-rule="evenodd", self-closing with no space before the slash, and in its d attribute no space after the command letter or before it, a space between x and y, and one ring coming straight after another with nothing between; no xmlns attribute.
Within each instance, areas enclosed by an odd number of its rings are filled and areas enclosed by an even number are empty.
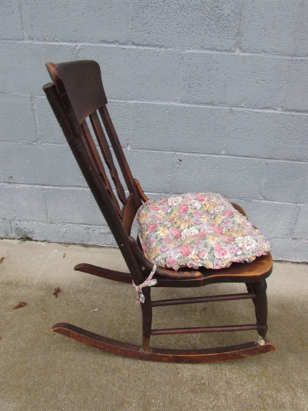
<svg viewBox="0 0 308 411"><path fill-rule="evenodd" d="M136 217L145 256L174 270L222 269L232 262L252 262L270 251L270 242L259 230L227 199L212 192L149 200Z"/></svg>

